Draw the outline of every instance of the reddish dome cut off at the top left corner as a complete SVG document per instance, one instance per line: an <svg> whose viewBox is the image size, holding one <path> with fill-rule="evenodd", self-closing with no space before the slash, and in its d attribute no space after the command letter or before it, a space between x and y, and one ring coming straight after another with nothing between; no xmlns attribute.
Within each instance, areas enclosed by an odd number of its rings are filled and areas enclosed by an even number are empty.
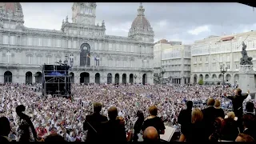
<svg viewBox="0 0 256 144"><path fill-rule="evenodd" d="M5 10L6 13L22 12L22 5L19 2L0 2L0 8Z"/></svg>

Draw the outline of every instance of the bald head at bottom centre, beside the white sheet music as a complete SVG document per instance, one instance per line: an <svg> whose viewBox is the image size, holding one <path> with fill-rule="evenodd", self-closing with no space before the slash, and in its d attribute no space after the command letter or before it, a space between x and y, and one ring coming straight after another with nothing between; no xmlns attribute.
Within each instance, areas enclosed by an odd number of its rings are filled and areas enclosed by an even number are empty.
<svg viewBox="0 0 256 144"><path fill-rule="evenodd" d="M156 130L153 126L147 127L143 132L143 140L144 142L158 141L158 130Z"/></svg>

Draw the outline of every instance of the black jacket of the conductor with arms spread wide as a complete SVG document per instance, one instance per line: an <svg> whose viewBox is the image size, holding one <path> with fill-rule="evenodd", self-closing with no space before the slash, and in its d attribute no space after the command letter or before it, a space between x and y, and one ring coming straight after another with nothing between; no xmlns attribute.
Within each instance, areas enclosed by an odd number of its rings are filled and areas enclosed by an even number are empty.
<svg viewBox="0 0 256 144"><path fill-rule="evenodd" d="M247 98L247 96L248 94L227 97L232 101L234 114L238 118L242 117L242 102Z"/></svg>

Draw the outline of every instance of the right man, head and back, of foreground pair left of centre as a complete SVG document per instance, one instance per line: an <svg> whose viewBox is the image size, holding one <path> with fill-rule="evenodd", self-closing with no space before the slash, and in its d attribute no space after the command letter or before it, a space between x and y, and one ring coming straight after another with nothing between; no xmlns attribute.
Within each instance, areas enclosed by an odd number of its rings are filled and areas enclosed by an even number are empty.
<svg viewBox="0 0 256 144"><path fill-rule="evenodd" d="M104 142L122 142L126 143L126 128L120 122L118 117L118 109L115 106L111 106L108 110L107 122L102 122L102 141Z"/></svg>

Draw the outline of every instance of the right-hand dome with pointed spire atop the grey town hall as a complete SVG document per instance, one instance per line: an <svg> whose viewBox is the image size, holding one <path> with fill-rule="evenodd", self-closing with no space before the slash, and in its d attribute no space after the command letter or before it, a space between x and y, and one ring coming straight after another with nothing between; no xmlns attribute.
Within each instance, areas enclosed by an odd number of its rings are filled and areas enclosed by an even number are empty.
<svg viewBox="0 0 256 144"><path fill-rule="evenodd" d="M131 25L132 30L136 28L142 28L143 30L150 29L150 22L146 19L144 11L145 9L143 8L141 3L138 8L138 16L134 19L134 22Z"/></svg>

